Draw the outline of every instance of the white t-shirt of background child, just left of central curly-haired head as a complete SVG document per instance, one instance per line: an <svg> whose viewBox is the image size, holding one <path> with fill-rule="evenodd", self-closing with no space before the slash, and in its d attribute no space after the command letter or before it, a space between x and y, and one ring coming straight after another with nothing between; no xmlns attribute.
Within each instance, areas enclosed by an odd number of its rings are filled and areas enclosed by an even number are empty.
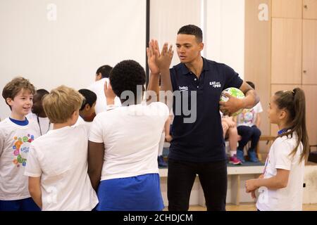
<svg viewBox="0 0 317 225"><path fill-rule="evenodd" d="M107 101L106 96L104 95L104 83L107 82L109 84L108 78L99 79L97 82L90 84L87 89L90 91L94 91L97 95L97 102L94 110L96 111L96 115L98 113L105 112L107 110ZM120 98L115 98L115 105L121 106Z"/></svg>

